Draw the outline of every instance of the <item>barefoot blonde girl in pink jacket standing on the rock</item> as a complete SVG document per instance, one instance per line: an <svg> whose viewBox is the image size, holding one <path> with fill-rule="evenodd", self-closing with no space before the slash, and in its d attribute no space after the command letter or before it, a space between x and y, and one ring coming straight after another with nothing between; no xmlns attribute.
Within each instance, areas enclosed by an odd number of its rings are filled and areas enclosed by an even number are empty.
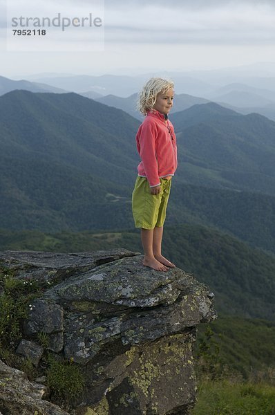
<svg viewBox="0 0 275 415"><path fill-rule="evenodd" d="M177 168L176 136L168 120L172 106L173 82L162 78L146 82L138 98L138 108L146 117L136 135L142 161L138 165L132 208L135 227L141 228L143 265L157 271L175 267L162 256L163 224L171 178Z"/></svg>

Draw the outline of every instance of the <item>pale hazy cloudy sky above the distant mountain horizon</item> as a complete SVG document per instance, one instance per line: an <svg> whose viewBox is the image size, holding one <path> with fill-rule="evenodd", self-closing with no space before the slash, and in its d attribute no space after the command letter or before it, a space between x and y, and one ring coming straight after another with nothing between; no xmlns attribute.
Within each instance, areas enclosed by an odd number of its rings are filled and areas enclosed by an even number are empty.
<svg viewBox="0 0 275 415"><path fill-rule="evenodd" d="M275 62L274 0L105 0L104 50L84 52L6 51L5 3L15 0L1 1L0 75L7 77L42 72L132 75ZM36 10L47 5L53 14L76 4L79 15L93 12L93 0L35 0ZM82 36L79 48L87 40ZM73 42L69 33L63 42Z"/></svg>

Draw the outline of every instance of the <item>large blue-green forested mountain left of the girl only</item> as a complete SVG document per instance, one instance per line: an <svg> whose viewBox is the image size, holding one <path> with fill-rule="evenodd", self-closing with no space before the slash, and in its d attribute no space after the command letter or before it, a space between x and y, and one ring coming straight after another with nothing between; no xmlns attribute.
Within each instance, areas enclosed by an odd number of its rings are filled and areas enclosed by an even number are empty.
<svg viewBox="0 0 275 415"><path fill-rule="evenodd" d="M139 124L75 93L0 97L0 227L113 227L135 180Z"/></svg>

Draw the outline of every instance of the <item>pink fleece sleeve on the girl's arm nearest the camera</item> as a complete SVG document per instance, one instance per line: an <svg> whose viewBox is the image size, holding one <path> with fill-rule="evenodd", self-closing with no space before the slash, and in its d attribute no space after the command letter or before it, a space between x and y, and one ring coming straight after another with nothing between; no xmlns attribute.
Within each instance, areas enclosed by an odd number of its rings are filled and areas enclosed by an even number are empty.
<svg viewBox="0 0 275 415"><path fill-rule="evenodd" d="M158 160L155 154L155 140L157 137L158 131L154 122L144 122L140 126L137 134L137 147L150 187L160 185Z"/></svg>

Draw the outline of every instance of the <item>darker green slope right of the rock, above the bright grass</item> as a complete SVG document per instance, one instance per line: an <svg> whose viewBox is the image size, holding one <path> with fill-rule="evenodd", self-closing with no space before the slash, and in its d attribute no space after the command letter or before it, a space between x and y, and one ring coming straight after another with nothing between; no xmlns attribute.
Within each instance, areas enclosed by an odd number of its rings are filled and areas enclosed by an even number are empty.
<svg viewBox="0 0 275 415"><path fill-rule="evenodd" d="M198 373L214 379L229 372L244 380L272 382L274 343L274 322L220 314L198 328Z"/></svg>

